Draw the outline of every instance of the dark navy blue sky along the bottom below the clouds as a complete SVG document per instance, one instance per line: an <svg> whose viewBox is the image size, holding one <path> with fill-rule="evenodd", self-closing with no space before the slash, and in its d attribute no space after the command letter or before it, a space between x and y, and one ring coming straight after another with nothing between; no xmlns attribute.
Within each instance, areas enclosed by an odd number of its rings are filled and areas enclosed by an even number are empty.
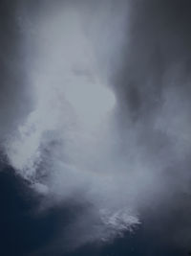
<svg viewBox="0 0 191 256"><path fill-rule="evenodd" d="M150 221L149 226L145 222L134 234L127 233L110 244L88 244L65 253L59 246L53 246L49 252L41 252L42 248L59 238L60 223L67 227L68 222L73 221L77 207L55 207L46 214L36 216L34 209L38 207L39 198L32 195L27 184L15 176L11 168L4 169L0 178L2 255L188 255L186 249L168 243L166 233L169 232L169 226L174 224L172 220L159 226L158 217ZM174 219L174 213L169 219Z"/></svg>

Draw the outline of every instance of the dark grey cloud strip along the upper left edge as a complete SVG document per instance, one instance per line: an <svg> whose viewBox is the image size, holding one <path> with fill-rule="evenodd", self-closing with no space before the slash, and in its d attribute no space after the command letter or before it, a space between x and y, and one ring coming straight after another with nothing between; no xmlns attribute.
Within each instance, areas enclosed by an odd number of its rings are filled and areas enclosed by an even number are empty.
<svg viewBox="0 0 191 256"><path fill-rule="evenodd" d="M29 90L26 88L28 58L22 49L23 35L18 26L16 15L18 1L0 2L0 139L4 140L9 132L22 122L30 109Z"/></svg>

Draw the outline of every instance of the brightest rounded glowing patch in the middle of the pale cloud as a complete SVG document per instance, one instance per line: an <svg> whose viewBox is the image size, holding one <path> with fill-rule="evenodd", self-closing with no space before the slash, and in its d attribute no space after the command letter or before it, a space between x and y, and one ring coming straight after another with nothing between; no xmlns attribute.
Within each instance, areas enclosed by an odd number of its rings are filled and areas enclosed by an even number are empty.
<svg viewBox="0 0 191 256"><path fill-rule="evenodd" d="M94 128L115 106L114 93L105 85L96 83L70 84L66 88L66 100L74 107L79 121Z"/></svg>

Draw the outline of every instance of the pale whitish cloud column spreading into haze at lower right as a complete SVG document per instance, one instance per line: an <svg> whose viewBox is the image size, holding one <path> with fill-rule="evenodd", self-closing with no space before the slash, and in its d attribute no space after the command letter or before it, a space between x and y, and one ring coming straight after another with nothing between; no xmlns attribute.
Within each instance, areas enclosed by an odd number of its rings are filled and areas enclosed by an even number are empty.
<svg viewBox="0 0 191 256"><path fill-rule="evenodd" d="M108 241L137 226L138 210L165 198L173 183L165 171L182 160L180 147L187 151L184 143L190 141L188 112L173 117L181 108L173 91L164 94L174 102L164 97L152 120L132 124L130 112L119 108L111 77L121 57L126 7L117 5L114 18L113 5L45 7L25 25L32 111L22 122L19 117L4 144L16 172L52 204L87 202L68 233L78 230L76 244ZM117 114L125 119L123 126Z"/></svg>

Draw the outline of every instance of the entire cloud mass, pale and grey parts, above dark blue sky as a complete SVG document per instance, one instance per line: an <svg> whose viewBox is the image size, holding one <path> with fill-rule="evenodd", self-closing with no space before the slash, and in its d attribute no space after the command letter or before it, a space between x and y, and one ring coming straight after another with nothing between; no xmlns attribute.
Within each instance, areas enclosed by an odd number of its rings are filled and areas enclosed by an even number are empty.
<svg viewBox="0 0 191 256"><path fill-rule="evenodd" d="M177 36L187 21L175 19L178 1L172 13L165 3L47 1L35 13L21 4L28 60L17 92L2 87L2 147L45 208L86 204L68 227L68 241L80 234L73 246L121 236L149 207L162 213L161 202L170 209L189 193L190 38L185 26Z"/></svg>

